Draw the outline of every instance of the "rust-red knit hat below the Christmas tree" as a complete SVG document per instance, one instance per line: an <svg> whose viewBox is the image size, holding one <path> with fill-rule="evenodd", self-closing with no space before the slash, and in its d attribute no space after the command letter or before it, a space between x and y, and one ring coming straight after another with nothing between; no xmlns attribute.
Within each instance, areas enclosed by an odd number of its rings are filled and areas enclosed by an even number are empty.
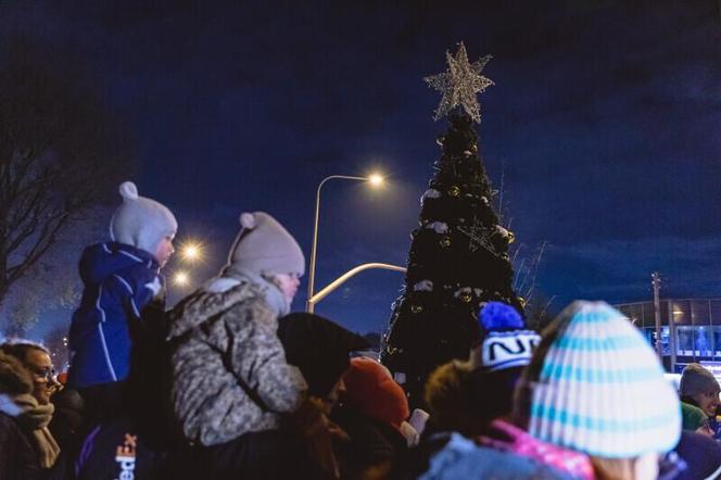
<svg viewBox="0 0 721 480"><path fill-rule="evenodd" d="M343 381L349 403L370 418L396 429L408 418L405 392L377 361L363 356L351 358L351 369Z"/></svg>

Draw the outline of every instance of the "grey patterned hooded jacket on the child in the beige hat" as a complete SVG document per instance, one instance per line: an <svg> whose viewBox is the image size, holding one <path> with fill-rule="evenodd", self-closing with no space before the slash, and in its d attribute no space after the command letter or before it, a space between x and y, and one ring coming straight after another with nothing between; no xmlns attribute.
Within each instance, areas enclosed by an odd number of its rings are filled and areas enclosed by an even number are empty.
<svg viewBox="0 0 721 480"><path fill-rule="evenodd" d="M286 362L277 316L256 283L216 278L169 319L170 396L187 439L216 445L277 429L279 414L302 402L305 380Z"/></svg>

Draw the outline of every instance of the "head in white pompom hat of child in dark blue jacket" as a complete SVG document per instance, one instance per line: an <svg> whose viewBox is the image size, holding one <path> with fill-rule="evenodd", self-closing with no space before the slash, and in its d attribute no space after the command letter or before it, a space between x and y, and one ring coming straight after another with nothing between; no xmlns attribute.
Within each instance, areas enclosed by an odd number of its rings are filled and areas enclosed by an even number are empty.
<svg viewBox="0 0 721 480"><path fill-rule="evenodd" d="M110 235L114 241L144 250L165 265L175 249L173 239L178 223L173 213L155 200L140 197L132 181L119 187L123 203L110 220Z"/></svg>

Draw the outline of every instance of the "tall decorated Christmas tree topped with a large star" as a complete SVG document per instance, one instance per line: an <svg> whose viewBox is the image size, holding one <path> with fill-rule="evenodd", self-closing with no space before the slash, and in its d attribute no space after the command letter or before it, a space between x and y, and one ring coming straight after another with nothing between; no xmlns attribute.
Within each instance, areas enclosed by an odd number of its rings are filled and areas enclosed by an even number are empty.
<svg viewBox="0 0 721 480"><path fill-rule="evenodd" d="M468 357L480 339L478 312L484 302L505 302L522 312L507 254L514 235L498 225L491 204L473 125L481 119L477 93L493 85L481 75L491 56L469 63L460 43L446 59L448 70L425 80L443 93L435 119L447 115L450 125L438 138L443 153L421 198L405 286L381 349L381 362L414 406L421 404L435 367Z"/></svg>

